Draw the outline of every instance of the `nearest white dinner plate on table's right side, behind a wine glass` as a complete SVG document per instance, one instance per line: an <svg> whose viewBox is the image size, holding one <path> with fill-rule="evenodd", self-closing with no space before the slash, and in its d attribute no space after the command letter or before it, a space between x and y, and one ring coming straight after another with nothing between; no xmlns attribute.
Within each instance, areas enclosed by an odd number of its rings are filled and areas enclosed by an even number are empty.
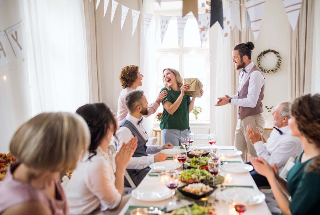
<svg viewBox="0 0 320 215"><path fill-rule="evenodd" d="M252 188L228 188L221 192L221 198L226 202L232 202L232 196L235 194L241 194L248 197L248 204L254 205L263 202L266 196L259 190Z"/></svg>

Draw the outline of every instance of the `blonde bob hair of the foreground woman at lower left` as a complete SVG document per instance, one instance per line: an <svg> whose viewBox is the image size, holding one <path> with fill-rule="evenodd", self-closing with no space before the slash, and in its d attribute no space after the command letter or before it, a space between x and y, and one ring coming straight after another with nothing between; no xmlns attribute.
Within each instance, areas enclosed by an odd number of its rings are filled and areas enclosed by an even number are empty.
<svg viewBox="0 0 320 215"><path fill-rule="evenodd" d="M28 167L62 172L73 170L90 145L84 119L71 113L43 113L20 126L10 151Z"/></svg>

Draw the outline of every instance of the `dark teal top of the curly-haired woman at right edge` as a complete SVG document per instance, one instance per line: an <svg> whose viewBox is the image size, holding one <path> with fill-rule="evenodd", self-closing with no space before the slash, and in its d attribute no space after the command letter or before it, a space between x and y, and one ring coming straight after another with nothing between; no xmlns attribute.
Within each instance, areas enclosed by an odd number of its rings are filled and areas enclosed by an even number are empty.
<svg viewBox="0 0 320 215"><path fill-rule="evenodd" d="M313 159L301 163L302 154L287 174L287 189L292 198L289 208L292 215L319 215L320 173L305 172Z"/></svg>

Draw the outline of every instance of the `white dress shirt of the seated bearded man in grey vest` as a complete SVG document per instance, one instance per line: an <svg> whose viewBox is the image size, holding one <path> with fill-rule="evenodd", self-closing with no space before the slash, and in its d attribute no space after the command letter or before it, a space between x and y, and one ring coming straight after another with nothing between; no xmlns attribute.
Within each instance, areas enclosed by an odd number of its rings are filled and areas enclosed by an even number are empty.
<svg viewBox="0 0 320 215"><path fill-rule="evenodd" d="M126 120L129 120L140 132L141 136L145 138L146 141L148 141L148 135L146 131L143 128L142 123L138 125L138 121L140 119L135 118L134 116L128 115L125 117ZM133 134L130 129L127 127L120 127L116 131L116 137L118 140L116 140L117 143L117 151L120 150L123 143L129 142L131 138L133 137ZM160 152L162 150L161 145L147 145L147 152L148 154L155 154L157 152ZM130 162L127 166L127 169L144 169L148 167L150 164L153 164L155 162L154 155L148 155L148 156L142 156L142 157L132 157L130 159Z"/></svg>

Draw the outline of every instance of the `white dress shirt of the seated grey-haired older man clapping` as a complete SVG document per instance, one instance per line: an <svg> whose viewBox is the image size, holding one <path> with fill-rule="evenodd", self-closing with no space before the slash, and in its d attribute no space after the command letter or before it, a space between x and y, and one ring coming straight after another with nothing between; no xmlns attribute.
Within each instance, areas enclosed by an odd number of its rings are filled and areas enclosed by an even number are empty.
<svg viewBox="0 0 320 215"><path fill-rule="evenodd" d="M279 128L283 134L272 130L267 143L256 142L253 146L259 157L265 159L270 165L276 164L279 173L290 157L296 159L302 152L302 146L298 137L291 136L289 126Z"/></svg>

